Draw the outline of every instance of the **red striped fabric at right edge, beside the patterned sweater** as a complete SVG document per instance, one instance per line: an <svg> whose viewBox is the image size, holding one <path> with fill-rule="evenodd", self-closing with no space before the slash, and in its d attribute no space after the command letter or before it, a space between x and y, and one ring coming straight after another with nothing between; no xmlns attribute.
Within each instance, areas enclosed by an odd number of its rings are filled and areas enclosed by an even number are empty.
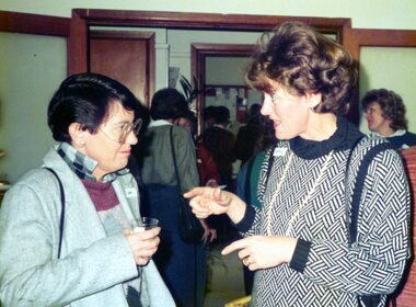
<svg viewBox="0 0 416 307"><path fill-rule="evenodd" d="M416 248L416 224L415 224L415 212L416 212L416 147L411 147L408 149L402 150L403 161L408 175L408 181L411 184L412 192L412 204L413 204L413 217L412 217L412 251L415 252ZM416 306L416 264L412 258L412 265L409 268L408 275L406 276L406 283L403 289L396 296L397 307L414 307ZM390 304L392 306L392 304Z"/></svg>

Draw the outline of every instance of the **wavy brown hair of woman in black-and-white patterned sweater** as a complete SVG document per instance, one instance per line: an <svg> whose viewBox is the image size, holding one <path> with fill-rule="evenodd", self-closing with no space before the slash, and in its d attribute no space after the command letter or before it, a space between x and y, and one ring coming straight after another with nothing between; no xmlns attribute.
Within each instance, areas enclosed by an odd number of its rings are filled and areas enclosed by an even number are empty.
<svg viewBox="0 0 416 307"><path fill-rule="evenodd" d="M344 115L357 82L357 65L335 41L301 22L285 22L263 34L245 80L269 94L275 90L270 80L294 95L321 93L315 112Z"/></svg>

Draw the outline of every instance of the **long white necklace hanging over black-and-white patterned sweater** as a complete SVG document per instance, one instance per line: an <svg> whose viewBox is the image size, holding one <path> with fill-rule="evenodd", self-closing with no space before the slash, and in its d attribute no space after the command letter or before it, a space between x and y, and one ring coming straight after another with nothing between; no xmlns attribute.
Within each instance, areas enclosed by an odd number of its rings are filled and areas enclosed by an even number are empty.
<svg viewBox="0 0 416 307"><path fill-rule="evenodd" d="M334 154L334 150L332 150L327 156L326 156L326 159L325 159L325 162L324 164L321 167L321 170L320 170L320 173L317 174L317 178L315 179L315 181L313 182L311 189L308 191L308 193L304 195L303 200L300 202L300 205L298 206L298 208L296 209L296 212L292 214L292 216L290 217L290 220L289 220L289 224L288 224L288 227L285 231L285 236L289 237L291 231L292 231L292 227L293 227L293 224L294 224L294 220L297 220L299 218L299 215L300 215L300 212L303 209L303 207L308 204L309 200L311 198L312 194L315 192L316 190L316 186L319 185L320 181L322 180L322 177L324 174L324 172L327 170L328 168L328 163L330 163L330 160L332 158ZM288 161L286 162L286 166L285 166L285 169L284 169L284 173L281 174L281 179L279 181L279 183L277 184L277 187L276 187L276 191L273 193L273 196L271 196L271 204L268 208L268 212L267 212L267 215L266 215L266 225L267 225L267 236L271 236L271 212L273 212L273 208L276 206L276 203L277 203L277 195L279 194L280 190L281 190L281 186L284 185L284 182L286 180L286 177L287 177L287 173L288 173L288 170L289 170L289 167L292 162L292 159L293 159L293 152L290 152L290 156L288 158Z"/></svg>

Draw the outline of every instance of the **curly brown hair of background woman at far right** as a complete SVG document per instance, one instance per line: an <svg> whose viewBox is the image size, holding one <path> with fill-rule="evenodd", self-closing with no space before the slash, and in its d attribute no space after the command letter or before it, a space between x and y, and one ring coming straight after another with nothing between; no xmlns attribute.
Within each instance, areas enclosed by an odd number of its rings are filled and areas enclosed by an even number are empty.
<svg viewBox="0 0 416 307"><path fill-rule="evenodd" d="M400 94L386 89L371 90L362 98L361 106L366 111L373 102L380 105L383 116L392 121L393 130L407 129L406 107Z"/></svg>

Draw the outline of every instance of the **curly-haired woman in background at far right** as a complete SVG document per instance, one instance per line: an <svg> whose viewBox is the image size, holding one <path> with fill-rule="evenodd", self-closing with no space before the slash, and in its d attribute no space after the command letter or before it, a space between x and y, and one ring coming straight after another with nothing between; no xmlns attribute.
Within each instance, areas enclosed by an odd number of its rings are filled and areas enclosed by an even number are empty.
<svg viewBox="0 0 416 307"><path fill-rule="evenodd" d="M406 109L397 93L371 90L362 98L361 105L373 134L385 137L396 149L416 146L416 134L407 132Z"/></svg>

